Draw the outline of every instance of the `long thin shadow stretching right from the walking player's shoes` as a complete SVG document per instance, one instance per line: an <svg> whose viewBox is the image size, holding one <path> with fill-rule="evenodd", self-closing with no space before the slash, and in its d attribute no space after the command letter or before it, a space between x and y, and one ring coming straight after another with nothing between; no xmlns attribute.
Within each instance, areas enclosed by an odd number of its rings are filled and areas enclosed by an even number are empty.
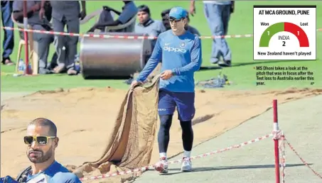
<svg viewBox="0 0 322 183"><path fill-rule="evenodd" d="M308 164L313 165L313 164ZM304 164L289 164L286 167L302 167L306 166ZM275 165L240 165L240 166L226 166L226 167L193 167L192 172L208 172L208 171L218 171L218 170L245 170L245 169L260 169L260 168L275 168ZM179 172L169 172L167 174L161 175L171 175L171 174L180 174L182 172L179 168L169 168L169 171L179 171ZM187 173L187 172L184 172Z"/></svg>

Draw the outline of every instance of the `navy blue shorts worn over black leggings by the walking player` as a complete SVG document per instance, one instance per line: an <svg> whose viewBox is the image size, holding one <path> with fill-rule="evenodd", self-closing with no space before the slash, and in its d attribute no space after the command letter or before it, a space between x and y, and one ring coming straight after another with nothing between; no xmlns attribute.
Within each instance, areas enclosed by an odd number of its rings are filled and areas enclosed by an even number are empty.
<svg viewBox="0 0 322 183"><path fill-rule="evenodd" d="M190 121L195 116L194 92L159 91L159 115L171 115L177 108L180 121Z"/></svg>

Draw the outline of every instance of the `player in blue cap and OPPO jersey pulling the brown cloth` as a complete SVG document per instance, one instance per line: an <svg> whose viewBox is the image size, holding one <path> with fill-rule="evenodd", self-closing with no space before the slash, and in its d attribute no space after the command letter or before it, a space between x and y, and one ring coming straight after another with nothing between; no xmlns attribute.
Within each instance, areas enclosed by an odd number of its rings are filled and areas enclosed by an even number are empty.
<svg viewBox="0 0 322 183"><path fill-rule="evenodd" d="M166 152L172 117L176 108L182 128L184 149L181 171L192 170L190 152L193 147L191 121L195 116L194 72L200 68L202 55L200 39L184 28L187 16L187 11L181 7L171 9L169 13L171 30L159 35L144 70L132 82L132 87L139 82L144 82L162 60L158 106L161 121L158 133L160 161L156 163L156 170L161 173L168 172Z"/></svg>

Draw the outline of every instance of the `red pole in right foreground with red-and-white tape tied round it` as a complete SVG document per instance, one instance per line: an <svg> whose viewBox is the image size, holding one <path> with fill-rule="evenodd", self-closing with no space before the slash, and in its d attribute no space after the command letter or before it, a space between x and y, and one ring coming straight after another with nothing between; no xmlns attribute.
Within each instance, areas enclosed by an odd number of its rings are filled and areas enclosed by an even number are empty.
<svg viewBox="0 0 322 183"><path fill-rule="evenodd" d="M279 133L279 123L277 123L277 99L273 100L273 133ZM274 138L274 153L275 153L275 182L280 183L279 179L279 138L278 134L275 134Z"/></svg>

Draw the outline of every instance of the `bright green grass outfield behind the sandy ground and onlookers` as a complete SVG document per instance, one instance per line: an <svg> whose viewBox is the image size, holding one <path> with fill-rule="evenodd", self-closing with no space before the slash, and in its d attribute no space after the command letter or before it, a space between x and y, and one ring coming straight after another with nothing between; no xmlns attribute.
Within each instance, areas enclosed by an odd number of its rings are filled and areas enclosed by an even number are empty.
<svg viewBox="0 0 322 183"><path fill-rule="evenodd" d="M183 6L188 9L188 1L135 1L136 5L146 4L150 7L152 12L152 18L160 19L160 13L164 9L168 9L171 6ZM252 5L254 4L316 4L317 10L322 9L322 2L320 1L237 1L235 13L232 14L229 35L235 34L249 34L252 33ZM115 9L121 9L121 1L87 1L87 13L100 9L102 5L109 5ZM190 24L198 28L202 35L210 35L210 29L208 23L203 15L203 3L201 1L196 2L197 15L190 17ZM317 28L322 28L322 11L316 11L317 13ZM94 20L93 20L94 21ZM93 24L93 21L82 25L80 32L85 32ZM14 53L11 55L13 60L16 60L16 53L18 48L18 33L15 33L16 47ZM1 30L1 40L3 40L3 30ZM225 87L225 89L283 89L289 87L321 87L322 86L322 52L317 52L316 61L254 61L252 56L252 38L231 38L227 39L228 44L232 50L232 62L233 67L225 68L222 70L223 74L227 74L228 79L233 82L231 86ZM322 33L317 33L317 50L322 48ZM203 46L203 66L209 66L211 40L202 40ZM53 54L53 45L51 45L50 55ZM308 81L304 82L266 82L265 86L256 87L256 66L305 66L308 70L313 72L315 78L314 84L310 84ZM14 72L14 67L1 66L1 72ZM195 74L196 80L210 79L210 77L216 77L219 70L200 71ZM37 90L49 90L57 88L74 88L74 87L116 87L120 89L127 89L129 86L123 83L124 80L85 80L81 75L76 77L70 77L64 74L58 75L44 75L36 77L12 77L1 76L1 91L37 91Z"/></svg>

